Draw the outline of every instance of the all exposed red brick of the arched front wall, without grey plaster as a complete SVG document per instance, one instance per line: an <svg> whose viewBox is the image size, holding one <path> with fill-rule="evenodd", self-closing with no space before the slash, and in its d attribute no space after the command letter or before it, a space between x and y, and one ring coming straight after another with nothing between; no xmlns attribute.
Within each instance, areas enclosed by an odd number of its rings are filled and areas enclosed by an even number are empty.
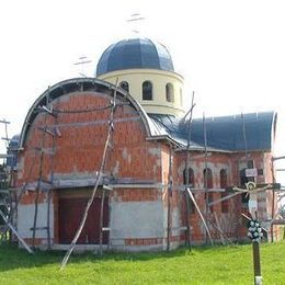
<svg viewBox="0 0 285 285"><path fill-rule="evenodd" d="M83 113L75 111L106 106L110 104L110 100L111 96L103 93L73 92L50 103L54 110L66 113L59 112L57 117L44 112L36 114L26 136L24 150L19 156L18 185L21 186L23 183L30 182L30 184L34 183L35 189L39 175L41 153L38 148L43 149L43 181L50 181L52 174L55 180L62 181L66 179L94 178L102 161L110 109ZM146 140L146 127L141 117L130 104L124 102L124 105L119 105L122 103L119 99L117 103L112 146L107 152L104 174L112 181L119 181L118 183L161 184L161 144ZM44 135L42 129L45 126L49 130L56 127L60 136L53 141L50 135ZM38 203L46 203L45 195L41 189ZM34 191L26 191L20 205L34 205L35 196ZM161 191L144 187L134 190L115 189L111 194L111 200L112 203L156 202L161 201ZM55 242L58 242L57 190L53 191L52 202L55 229L53 238ZM29 218L31 219L34 213L31 212ZM146 237L146 239L148 238L152 239L152 237ZM161 238L161 236L158 238ZM30 242L31 238L26 238L26 241ZM41 243L41 241L37 242Z"/></svg>

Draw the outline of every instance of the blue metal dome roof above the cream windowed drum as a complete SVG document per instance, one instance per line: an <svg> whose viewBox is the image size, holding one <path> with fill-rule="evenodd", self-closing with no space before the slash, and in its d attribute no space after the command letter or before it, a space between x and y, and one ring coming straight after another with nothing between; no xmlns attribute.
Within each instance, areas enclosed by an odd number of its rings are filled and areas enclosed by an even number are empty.
<svg viewBox="0 0 285 285"><path fill-rule="evenodd" d="M96 76L130 68L174 71L168 49L149 38L129 38L111 45L101 56Z"/></svg>

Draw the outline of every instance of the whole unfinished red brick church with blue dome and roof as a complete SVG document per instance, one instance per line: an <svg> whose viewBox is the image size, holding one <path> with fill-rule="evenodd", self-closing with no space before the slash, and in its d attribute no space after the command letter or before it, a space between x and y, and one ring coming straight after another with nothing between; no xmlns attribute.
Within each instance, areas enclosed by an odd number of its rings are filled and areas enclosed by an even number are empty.
<svg viewBox="0 0 285 285"><path fill-rule="evenodd" d="M214 241L220 241L220 230L232 241L244 239L241 213L248 213L249 196L226 189L248 181L249 164L256 169L256 182L273 181L277 116L265 112L189 124L186 101L191 96L168 49L148 38L107 47L94 78L67 79L44 91L29 110L19 141L21 237L39 248L65 249L71 242L112 125L79 248L96 248L100 237L112 250L205 243L206 230L185 184ZM258 194L264 227L272 198L271 191Z"/></svg>

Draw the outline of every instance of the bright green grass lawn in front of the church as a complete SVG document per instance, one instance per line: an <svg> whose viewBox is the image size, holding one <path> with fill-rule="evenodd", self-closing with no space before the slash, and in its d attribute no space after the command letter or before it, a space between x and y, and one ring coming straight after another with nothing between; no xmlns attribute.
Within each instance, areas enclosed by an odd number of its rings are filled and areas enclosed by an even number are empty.
<svg viewBox="0 0 285 285"><path fill-rule="evenodd" d="M64 252L30 255L0 246L0 284L252 284L251 244L179 249L162 253L72 255L59 271ZM261 244L264 284L285 284L285 242Z"/></svg>

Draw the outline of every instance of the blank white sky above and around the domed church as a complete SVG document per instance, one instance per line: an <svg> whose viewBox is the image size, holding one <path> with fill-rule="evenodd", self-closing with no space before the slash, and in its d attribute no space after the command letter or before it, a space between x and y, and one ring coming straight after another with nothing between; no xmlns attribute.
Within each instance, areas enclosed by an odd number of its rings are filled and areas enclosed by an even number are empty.
<svg viewBox="0 0 285 285"><path fill-rule="evenodd" d="M129 24L134 13L145 20ZM185 104L195 92L194 116L274 110L285 122L284 13L283 0L1 1L0 119L19 134L48 86L80 77L79 57L92 60L83 72L93 77L104 49L135 29L168 47L185 79Z"/></svg>

